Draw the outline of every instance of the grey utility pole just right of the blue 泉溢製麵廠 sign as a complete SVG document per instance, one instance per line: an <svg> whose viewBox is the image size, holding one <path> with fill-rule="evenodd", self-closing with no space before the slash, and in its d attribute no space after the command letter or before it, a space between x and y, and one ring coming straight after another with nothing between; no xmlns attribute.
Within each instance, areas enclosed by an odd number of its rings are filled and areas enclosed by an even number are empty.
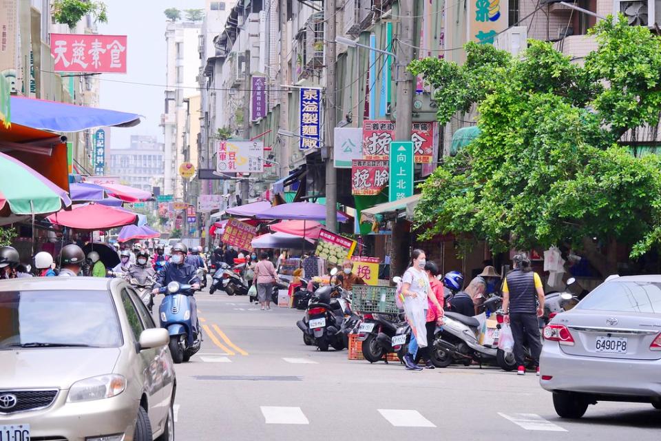
<svg viewBox="0 0 661 441"><path fill-rule="evenodd" d="M322 151L326 152L326 228L337 232L337 170L333 165L333 132L336 125L335 107L335 2L324 1L326 19L326 137Z"/></svg>

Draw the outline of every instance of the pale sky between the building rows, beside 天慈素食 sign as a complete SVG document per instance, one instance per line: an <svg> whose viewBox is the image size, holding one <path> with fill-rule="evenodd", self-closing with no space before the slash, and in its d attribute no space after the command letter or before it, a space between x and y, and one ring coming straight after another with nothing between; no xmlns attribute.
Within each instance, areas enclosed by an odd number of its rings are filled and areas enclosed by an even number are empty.
<svg viewBox="0 0 661 441"><path fill-rule="evenodd" d="M99 34L127 35L127 74L101 74L101 107L145 116L136 127L112 129L110 148L128 148L131 135L162 142L167 8L203 9L204 0L105 0L108 23ZM140 83L140 84L135 84ZM145 85L151 84L151 85Z"/></svg>

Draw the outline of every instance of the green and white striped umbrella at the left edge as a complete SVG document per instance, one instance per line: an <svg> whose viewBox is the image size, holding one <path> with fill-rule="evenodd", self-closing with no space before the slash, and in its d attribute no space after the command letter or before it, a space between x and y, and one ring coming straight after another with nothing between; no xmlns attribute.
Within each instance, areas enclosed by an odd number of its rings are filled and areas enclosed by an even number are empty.
<svg viewBox="0 0 661 441"><path fill-rule="evenodd" d="M14 214L53 213L71 205L65 190L4 153L0 153L0 170L0 216L7 205Z"/></svg>

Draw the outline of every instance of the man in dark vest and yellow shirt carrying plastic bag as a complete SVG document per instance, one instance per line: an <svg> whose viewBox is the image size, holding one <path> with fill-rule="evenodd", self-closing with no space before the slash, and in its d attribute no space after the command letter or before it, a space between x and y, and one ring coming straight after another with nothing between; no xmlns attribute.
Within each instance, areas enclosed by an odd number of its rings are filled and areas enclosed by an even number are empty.
<svg viewBox="0 0 661 441"><path fill-rule="evenodd" d="M539 354L542 351L538 317L544 314L544 287L539 275L532 271L530 260L525 254L512 259L514 269L503 283L503 311L505 322L512 327L514 358L518 365L517 374L525 375L523 343L527 342L539 375Z"/></svg>

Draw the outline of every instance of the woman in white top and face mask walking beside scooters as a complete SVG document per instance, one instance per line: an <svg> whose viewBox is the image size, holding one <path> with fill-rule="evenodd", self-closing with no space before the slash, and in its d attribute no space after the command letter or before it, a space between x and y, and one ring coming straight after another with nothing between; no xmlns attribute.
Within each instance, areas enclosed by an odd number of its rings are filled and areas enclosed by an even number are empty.
<svg viewBox="0 0 661 441"><path fill-rule="evenodd" d="M421 249L412 252L412 265L406 270L401 278L401 294L404 296L404 311L406 320L411 325L411 341L408 345L408 353L403 361L406 369L421 371L422 368L415 364L415 356L423 360L428 369L434 365L429 360L429 349L427 347L427 309L428 293L431 291L429 278L425 272L427 256Z"/></svg>

